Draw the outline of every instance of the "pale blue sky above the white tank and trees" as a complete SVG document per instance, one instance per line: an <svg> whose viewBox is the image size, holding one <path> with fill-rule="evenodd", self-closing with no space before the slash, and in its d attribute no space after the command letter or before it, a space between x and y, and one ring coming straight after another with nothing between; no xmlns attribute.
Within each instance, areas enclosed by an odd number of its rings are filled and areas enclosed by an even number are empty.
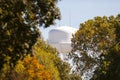
<svg viewBox="0 0 120 80"><path fill-rule="evenodd" d="M120 0L61 0L57 3L61 12L61 20L49 28L40 28L43 38L47 40L48 32L59 26L79 28L95 16L116 16L120 13Z"/></svg>

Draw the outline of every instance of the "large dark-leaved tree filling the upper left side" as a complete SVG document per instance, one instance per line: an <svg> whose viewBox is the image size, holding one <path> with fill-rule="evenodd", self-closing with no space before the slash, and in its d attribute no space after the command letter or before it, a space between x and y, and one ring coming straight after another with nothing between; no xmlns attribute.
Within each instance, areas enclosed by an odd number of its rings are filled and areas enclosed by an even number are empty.
<svg viewBox="0 0 120 80"><path fill-rule="evenodd" d="M0 0L0 70L9 62L32 54L40 36L39 27L49 27L60 19L58 0ZM6 57L8 59L6 59Z"/></svg>

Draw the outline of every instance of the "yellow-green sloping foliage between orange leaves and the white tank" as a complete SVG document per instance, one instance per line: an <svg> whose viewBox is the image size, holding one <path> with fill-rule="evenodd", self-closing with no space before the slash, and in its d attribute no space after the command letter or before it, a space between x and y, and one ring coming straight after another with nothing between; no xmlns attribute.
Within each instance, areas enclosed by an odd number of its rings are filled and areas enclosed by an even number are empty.
<svg viewBox="0 0 120 80"><path fill-rule="evenodd" d="M40 63L51 72L53 80L70 80L70 66L58 57L56 49L43 40L38 40L34 51Z"/></svg>

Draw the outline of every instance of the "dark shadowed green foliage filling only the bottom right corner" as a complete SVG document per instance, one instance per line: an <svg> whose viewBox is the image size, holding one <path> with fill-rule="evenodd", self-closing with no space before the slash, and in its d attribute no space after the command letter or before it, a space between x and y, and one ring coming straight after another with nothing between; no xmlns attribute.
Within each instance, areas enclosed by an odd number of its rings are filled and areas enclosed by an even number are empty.
<svg viewBox="0 0 120 80"><path fill-rule="evenodd" d="M120 43L101 55L101 63L94 72L91 80L119 80L120 79Z"/></svg>

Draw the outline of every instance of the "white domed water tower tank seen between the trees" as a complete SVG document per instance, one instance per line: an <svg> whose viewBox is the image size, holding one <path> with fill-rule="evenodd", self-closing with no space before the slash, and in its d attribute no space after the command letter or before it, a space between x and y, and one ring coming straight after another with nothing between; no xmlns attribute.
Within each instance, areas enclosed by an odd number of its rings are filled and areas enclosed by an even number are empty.
<svg viewBox="0 0 120 80"><path fill-rule="evenodd" d="M76 31L77 29L73 27L56 27L50 30L48 43L60 53L69 53L71 51L71 38Z"/></svg>

